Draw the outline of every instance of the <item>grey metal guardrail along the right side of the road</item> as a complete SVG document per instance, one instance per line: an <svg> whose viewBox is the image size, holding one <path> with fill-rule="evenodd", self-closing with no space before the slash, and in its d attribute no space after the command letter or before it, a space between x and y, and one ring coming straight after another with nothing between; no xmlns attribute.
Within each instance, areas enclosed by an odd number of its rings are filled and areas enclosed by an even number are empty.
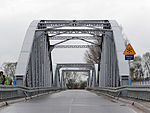
<svg viewBox="0 0 150 113"><path fill-rule="evenodd" d="M123 87L97 87L87 90L99 91L115 97L129 97L150 101L150 85L123 86Z"/></svg>

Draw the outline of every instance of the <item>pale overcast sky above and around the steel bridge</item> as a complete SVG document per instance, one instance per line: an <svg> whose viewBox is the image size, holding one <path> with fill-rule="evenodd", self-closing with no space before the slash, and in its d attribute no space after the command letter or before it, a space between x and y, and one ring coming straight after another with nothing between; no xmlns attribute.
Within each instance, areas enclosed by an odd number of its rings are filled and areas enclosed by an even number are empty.
<svg viewBox="0 0 150 113"><path fill-rule="evenodd" d="M150 0L0 0L0 65L17 61L30 22L39 19L117 20L137 55L150 52ZM66 58L59 51L56 61ZM72 55L83 61L83 50Z"/></svg>

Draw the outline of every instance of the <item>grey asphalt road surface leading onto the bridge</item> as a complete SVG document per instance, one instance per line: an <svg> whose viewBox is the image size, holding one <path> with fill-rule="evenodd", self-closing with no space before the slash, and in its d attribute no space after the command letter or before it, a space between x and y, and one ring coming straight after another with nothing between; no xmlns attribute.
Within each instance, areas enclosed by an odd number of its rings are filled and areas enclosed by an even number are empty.
<svg viewBox="0 0 150 113"><path fill-rule="evenodd" d="M113 102L85 90L66 90L11 104L0 113L136 113L124 104Z"/></svg>

